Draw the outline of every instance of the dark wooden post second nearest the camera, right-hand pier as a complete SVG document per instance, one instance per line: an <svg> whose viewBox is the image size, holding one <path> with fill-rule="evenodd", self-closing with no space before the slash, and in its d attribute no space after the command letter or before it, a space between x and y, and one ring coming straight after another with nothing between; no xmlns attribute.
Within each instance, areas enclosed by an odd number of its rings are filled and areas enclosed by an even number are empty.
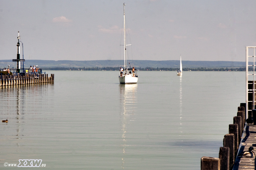
<svg viewBox="0 0 256 170"><path fill-rule="evenodd" d="M229 148L219 148L219 160L221 163L221 170L229 170Z"/></svg>

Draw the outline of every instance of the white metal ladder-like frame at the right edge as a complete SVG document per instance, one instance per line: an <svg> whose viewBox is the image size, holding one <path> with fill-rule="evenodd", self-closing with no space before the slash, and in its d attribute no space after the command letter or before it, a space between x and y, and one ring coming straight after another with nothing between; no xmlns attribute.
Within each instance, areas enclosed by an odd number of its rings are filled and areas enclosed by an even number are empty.
<svg viewBox="0 0 256 170"><path fill-rule="evenodd" d="M248 55L248 49L249 48L253 48L253 56L249 56ZM254 105L255 105L255 88L254 88L254 82L255 82L255 48L256 47L246 47L246 108L245 108L245 118L248 119L248 111L252 111L248 109L248 102L253 102L253 108L254 109ZM253 57L253 65L248 65L248 58L249 57ZM253 74L249 74L248 72L248 67L249 66L253 66ZM253 83L248 83L248 76L252 76L253 77ZM253 89L248 89L248 84L253 84ZM248 101L248 94L252 93L253 94L253 100L252 101Z"/></svg>

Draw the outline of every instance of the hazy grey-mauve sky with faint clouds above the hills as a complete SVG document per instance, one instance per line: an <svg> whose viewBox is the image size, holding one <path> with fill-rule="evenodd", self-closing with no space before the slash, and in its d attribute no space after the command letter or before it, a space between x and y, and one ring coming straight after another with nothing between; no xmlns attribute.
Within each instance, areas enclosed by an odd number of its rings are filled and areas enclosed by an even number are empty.
<svg viewBox="0 0 256 170"><path fill-rule="evenodd" d="M130 59L245 61L256 46L255 0L0 0L0 60L18 31L26 60L123 60L124 2Z"/></svg>

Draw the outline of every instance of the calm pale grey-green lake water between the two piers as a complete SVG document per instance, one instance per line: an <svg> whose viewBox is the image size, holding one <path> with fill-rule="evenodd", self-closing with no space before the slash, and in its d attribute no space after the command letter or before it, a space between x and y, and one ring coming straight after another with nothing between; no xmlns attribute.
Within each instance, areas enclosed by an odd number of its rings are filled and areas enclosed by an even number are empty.
<svg viewBox="0 0 256 170"><path fill-rule="evenodd" d="M47 73L54 83L0 87L1 169L200 169L245 103L245 72L139 71L136 85L119 71Z"/></svg>

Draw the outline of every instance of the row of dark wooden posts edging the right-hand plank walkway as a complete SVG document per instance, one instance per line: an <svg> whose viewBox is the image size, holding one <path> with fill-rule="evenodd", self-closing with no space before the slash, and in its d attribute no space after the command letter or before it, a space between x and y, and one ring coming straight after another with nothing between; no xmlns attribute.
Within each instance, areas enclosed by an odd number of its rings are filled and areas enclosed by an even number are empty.
<svg viewBox="0 0 256 170"><path fill-rule="evenodd" d="M241 103L244 105L245 103ZM223 147L219 148L219 158L201 158L201 170L229 170L234 165L245 125L245 107L238 107L233 124L229 124L229 134L223 139Z"/></svg>

